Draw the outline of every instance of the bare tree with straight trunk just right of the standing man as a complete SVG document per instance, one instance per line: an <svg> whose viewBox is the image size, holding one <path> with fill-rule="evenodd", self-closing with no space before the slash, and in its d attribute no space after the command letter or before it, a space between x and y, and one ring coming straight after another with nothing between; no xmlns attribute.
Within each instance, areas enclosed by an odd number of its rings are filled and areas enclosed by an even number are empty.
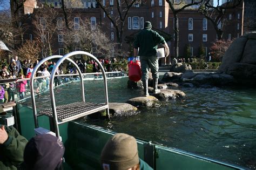
<svg viewBox="0 0 256 170"><path fill-rule="evenodd" d="M190 3L186 1L176 1L176 0L166 0L169 4L170 9L173 13L174 19L174 57L179 56L179 23L178 23L178 13L188 8L189 6L198 5L203 2L203 0L190 0Z"/></svg>

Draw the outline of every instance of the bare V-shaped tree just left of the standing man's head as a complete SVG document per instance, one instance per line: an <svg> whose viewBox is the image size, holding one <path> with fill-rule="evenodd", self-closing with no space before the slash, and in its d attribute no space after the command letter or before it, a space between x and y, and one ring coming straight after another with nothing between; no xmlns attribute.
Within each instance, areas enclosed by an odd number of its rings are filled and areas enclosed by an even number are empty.
<svg viewBox="0 0 256 170"><path fill-rule="evenodd" d="M138 0L116 0L117 5L103 4L103 0L96 0L100 8L105 12L107 18L110 19L116 31L118 50L122 50L123 30L127 15L134 3L140 3ZM115 10L114 10L115 9ZM118 15L112 15L111 11L117 11Z"/></svg>

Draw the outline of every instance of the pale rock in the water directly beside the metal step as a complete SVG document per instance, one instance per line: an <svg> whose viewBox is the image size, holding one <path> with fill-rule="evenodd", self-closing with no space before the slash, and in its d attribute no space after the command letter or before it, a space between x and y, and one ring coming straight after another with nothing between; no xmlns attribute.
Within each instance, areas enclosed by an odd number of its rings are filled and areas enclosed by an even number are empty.
<svg viewBox="0 0 256 170"><path fill-rule="evenodd" d="M128 116L136 114L138 108L127 103L109 103L109 112L112 117Z"/></svg>

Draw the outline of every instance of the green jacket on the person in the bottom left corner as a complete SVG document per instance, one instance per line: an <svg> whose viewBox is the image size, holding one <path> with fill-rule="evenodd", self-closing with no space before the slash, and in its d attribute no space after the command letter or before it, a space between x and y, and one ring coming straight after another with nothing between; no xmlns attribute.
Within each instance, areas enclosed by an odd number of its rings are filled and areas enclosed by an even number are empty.
<svg viewBox="0 0 256 170"><path fill-rule="evenodd" d="M4 127L9 137L0 145L0 169L17 169L16 166L23 162L23 153L28 140L20 135L16 128Z"/></svg>

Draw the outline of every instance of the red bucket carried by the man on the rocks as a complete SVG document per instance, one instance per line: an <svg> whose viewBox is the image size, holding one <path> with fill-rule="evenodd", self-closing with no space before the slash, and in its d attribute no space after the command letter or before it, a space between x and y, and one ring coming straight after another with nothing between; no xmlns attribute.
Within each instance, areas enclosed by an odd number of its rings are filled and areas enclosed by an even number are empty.
<svg viewBox="0 0 256 170"><path fill-rule="evenodd" d="M139 81L142 79L142 70L140 69L140 61L136 60L136 63L132 61L129 63L129 79L131 81Z"/></svg>

